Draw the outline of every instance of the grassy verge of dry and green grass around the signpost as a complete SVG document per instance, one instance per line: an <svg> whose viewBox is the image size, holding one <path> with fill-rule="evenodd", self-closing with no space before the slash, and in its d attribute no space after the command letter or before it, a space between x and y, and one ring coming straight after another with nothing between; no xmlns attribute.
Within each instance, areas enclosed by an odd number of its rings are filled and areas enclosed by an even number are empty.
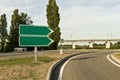
<svg viewBox="0 0 120 80"><path fill-rule="evenodd" d="M0 57L0 80L46 80L50 66L57 60L78 53L65 51L48 51L38 55L38 63L34 63L34 55Z"/></svg>

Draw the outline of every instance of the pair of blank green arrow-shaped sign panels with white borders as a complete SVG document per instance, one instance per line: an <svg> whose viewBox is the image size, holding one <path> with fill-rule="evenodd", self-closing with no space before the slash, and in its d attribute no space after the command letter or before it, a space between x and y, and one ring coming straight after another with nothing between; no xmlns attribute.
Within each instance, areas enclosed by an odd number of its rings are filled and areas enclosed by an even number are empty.
<svg viewBox="0 0 120 80"><path fill-rule="evenodd" d="M47 26L20 25L19 46L48 46L53 42L49 38L52 32Z"/></svg>

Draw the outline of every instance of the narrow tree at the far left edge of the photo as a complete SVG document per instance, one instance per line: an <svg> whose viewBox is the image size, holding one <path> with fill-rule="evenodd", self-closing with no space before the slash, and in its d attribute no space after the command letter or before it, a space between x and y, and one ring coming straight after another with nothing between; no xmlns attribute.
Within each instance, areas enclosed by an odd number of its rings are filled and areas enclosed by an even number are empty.
<svg viewBox="0 0 120 80"><path fill-rule="evenodd" d="M1 51L4 52L5 50L5 40L7 38L7 19L6 14L1 15L0 17L0 41L1 41Z"/></svg>

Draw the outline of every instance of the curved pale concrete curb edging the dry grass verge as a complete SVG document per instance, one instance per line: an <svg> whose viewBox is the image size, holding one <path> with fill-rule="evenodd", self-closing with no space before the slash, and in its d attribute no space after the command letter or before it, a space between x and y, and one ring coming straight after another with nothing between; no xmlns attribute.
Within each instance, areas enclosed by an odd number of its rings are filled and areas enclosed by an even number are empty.
<svg viewBox="0 0 120 80"><path fill-rule="evenodd" d="M76 56L76 55L79 55L79 54L81 54L81 53L77 53L77 54L72 54L72 55L69 55L69 56L65 56L65 57L63 57L62 59L60 59L60 60L58 60L57 62L55 62L54 64L52 64L52 66L50 67L50 69L49 69L49 71L48 71L46 80L51 80L53 70L54 70L59 64L61 64L63 61L67 61L70 57L73 57L73 56Z"/></svg>

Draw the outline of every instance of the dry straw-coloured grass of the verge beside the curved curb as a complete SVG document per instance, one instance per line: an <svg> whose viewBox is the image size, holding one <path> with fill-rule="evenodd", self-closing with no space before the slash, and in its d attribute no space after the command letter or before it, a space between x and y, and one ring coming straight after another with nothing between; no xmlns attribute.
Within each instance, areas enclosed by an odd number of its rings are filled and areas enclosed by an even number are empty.
<svg viewBox="0 0 120 80"><path fill-rule="evenodd" d="M50 51L47 54L41 54L40 57L49 57L51 60L46 62L40 62L34 64L33 62L27 62L23 64L13 63L12 65L0 65L0 80L46 80L48 70L50 66L61 59L64 56L76 53L75 51L66 52L67 54L60 55L58 51ZM31 57L31 56L24 56ZM19 57L17 57L18 59ZM20 57L21 58L21 57ZM1 60L9 60L10 58L4 58ZM0 63L1 64L1 63Z"/></svg>

